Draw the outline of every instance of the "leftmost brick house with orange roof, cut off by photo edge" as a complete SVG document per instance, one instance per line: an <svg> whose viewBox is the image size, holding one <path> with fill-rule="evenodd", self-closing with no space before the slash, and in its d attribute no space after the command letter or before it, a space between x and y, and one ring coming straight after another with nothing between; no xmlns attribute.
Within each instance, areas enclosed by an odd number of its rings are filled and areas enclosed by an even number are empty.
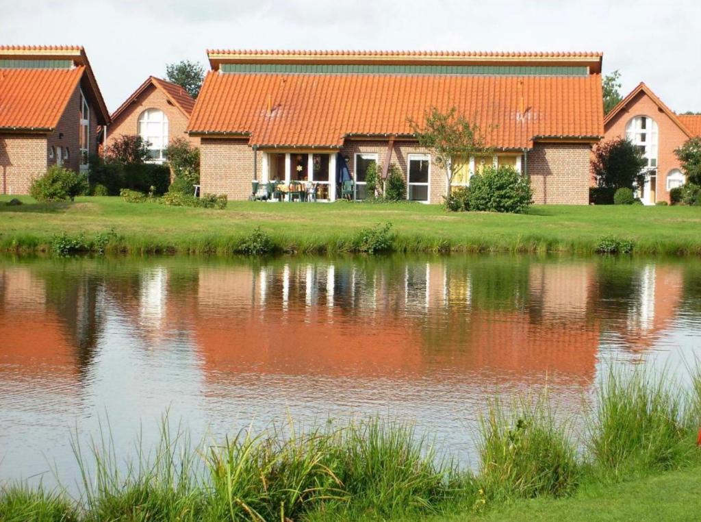
<svg viewBox="0 0 701 522"><path fill-rule="evenodd" d="M52 165L87 171L109 122L79 46L0 46L0 189L27 194Z"/></svg>

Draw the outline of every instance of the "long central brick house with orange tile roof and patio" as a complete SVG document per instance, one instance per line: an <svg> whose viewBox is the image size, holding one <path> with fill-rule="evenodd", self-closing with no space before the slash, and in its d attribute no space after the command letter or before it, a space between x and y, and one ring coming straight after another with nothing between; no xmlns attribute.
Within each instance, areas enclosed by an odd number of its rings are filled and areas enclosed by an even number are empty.
<svg viewBox="0 0 701 522"><path fill-rule="evenodd" d="M418 147L431 107L477 123L489 156L462 165L452 186L486 165L528 175L536 203L587 204L590 151L604 135L601 53L207 51L211 70L188 132L201 139L203 192L247 199L251 182L313 183L334 201L337 161L355 197L375 163L400 167L407 199L441 203L447 175ZM340 156L339 156L340 154Z"/></svg>

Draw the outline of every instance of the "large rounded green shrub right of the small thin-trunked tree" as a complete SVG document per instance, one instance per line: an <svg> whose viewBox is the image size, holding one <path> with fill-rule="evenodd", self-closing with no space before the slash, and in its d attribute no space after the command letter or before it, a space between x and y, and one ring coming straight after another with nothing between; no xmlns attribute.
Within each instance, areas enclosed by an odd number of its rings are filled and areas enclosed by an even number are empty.
<svg viewBox="0 0 701 522"><path fill-rule="evenodd" d="M526 213L533 203L531 182L509 166L485 168L470 179L468 201L470 210Z"/></svg>

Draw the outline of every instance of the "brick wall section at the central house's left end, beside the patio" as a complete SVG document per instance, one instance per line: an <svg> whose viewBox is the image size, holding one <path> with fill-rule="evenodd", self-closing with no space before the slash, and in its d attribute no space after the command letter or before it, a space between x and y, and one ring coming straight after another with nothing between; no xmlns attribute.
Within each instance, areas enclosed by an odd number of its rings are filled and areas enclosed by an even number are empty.
<svg viewBox="0 0 701 522"><path fill-rule="evenodd" d="M257 152L258 179L262 177L263 153ZM200 144L200 191L226 194L230 200L248 199L253 179L253 149L248 140L202 138Z"/></svg>

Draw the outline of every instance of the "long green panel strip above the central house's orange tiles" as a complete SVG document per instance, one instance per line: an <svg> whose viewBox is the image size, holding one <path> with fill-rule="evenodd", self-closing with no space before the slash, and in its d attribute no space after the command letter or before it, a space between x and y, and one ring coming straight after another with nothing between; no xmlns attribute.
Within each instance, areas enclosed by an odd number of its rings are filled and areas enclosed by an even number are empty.
<svg viewBox="0 0 701 522"><path fill-rule="evenodd" d="M580 65L322 65L224 63L222 72L289 74L468 74L484 76L587 76Z"/></svg>

